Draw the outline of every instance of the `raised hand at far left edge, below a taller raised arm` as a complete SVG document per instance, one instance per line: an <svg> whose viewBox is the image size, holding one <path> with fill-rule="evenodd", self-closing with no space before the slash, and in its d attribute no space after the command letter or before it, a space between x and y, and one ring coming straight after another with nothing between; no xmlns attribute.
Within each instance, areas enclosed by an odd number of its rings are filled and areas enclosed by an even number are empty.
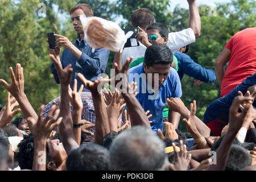
<svg viewBox="0 0 256 182"><path fill-rule="evenodd" d="M6 105L5 108L3 109L3 116L0 118L0 128L4 128L7 125L10 124L11 119L14 118L16 114L20 112L20 109L16 109L13 111L14 107L18 106L18 102L16 99L13 97L10 100L10 92L7 94L7 99L6 99Z"/></svg>

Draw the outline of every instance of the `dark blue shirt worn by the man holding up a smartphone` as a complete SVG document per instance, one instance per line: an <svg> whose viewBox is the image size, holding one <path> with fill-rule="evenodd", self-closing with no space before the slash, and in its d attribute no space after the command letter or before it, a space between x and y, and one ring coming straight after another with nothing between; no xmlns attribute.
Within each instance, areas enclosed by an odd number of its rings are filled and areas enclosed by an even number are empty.
<svg viewBox="0 0 256 182"><path fill-rule="evenodd" d="M87 80L97 80L97 76L100 73L105 73L106 65L109 59L110 51L105 48L98 48L92 52L92 47L82 39L79 43L80 35L77 37L76 41L72 44L76 46L81 52L82 55L80 59L77 59L75 55L69 49L64 49L60 61L62 67L65 68L67 65L72 64L73 73L71 78L71 88L73 89L74 80L77 80L77 90L80 88L83 82L77 76L77 73L82 73ZM57 76L57 70L54 67L53 63L51 64L51 72L57 84L60 83L59 77ZM89 90L85 89L83 92L88 92Z"/></svg>

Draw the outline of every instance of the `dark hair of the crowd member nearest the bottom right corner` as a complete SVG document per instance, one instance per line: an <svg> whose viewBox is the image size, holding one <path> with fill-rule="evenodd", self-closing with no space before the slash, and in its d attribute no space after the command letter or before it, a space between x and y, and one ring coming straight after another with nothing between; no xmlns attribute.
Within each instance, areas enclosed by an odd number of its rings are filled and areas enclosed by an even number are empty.
<svg viewBox="0 0 256 182"><path fill-rule="evenodd" d="M247 166L251 166L250 154L242 146L232 144L225 171L239 171Z"/></svg>

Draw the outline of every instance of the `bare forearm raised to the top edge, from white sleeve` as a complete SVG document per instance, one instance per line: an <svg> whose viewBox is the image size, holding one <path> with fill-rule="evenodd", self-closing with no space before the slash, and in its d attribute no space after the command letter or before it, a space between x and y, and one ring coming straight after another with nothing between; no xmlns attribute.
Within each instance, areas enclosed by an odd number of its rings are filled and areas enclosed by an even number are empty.
<svg viewBox="0 0 256 182"><path fill-rule="evenodd" d="M201 19L196 6L196 0L187 0L189 5L189 22L188 27L195 32L196 39L199 38L201 32Z"/></svg>

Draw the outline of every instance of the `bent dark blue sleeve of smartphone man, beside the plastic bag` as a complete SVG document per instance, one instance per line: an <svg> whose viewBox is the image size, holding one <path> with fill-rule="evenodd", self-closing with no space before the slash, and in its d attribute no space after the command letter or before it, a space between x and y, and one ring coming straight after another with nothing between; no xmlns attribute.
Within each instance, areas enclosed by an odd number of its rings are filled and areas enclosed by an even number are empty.
<svg viewBox="0 0 256 182"><path fill-rule="evenodd" d="M105 48L98 48L94 51L93 56L89 57L86 53L82 52L82 55L78 61L83 70L89 75L94 75L99 69L104 69L105 72L106 64L108 63L110 51Z"/></svg>

